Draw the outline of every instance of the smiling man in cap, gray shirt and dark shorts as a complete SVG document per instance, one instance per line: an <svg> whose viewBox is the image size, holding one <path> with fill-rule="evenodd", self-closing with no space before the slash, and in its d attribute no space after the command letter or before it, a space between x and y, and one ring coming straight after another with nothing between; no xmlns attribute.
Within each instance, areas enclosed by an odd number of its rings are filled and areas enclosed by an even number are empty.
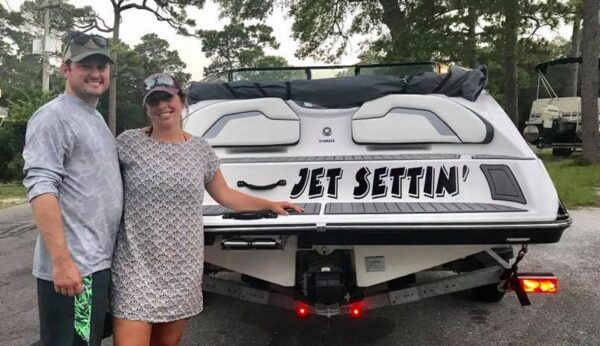
<svg viewBox="0 0 600 346"><path fill-rule="evenodd" d="M37 277L43 345L100 345L123 188L114 138L96 110L108 89L108 41L71 36L65 92L27 125L27 197L40 232Z"/></svg>

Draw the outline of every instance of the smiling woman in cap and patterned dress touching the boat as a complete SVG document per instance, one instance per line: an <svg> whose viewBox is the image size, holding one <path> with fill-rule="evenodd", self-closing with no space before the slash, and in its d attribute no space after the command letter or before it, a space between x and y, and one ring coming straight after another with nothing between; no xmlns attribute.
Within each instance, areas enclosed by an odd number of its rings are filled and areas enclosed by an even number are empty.
<svg viewBox="0 0 600 346"><path fill-rule="evenodd" d="M177 81L154 74L144 87L151 126L117 138L125 200L112 268L114 342L177 345L186 319L202 311L204 190L234 210L302 210L229 188L210 145L182 129Z"/></svg>

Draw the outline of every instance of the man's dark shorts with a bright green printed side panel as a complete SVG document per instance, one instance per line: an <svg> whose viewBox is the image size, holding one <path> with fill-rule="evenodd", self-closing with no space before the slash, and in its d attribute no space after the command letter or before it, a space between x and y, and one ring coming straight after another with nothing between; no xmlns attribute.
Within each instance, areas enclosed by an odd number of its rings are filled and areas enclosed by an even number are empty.
<svg viewBox="0 0 600 346"><path fill-rule="evenodd" d="M83 278L76 297L54 291L52 281L37 280L41 345L100 345L109 308L110 269ZM109 321L107 321L109 322Z"/></svg>

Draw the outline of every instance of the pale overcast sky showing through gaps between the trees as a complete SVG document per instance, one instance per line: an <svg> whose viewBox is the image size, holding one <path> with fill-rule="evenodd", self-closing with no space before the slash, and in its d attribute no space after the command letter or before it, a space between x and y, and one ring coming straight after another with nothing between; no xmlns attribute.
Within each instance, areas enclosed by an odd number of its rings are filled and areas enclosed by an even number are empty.
<svg viewBox="0 0 600 346"><path fill-rule="evenodd" d="M17 11L24 0L0 0L13 11ZM109 0L70 0L69 3L78 6L92 6L92 8L100 14L107 24L112 25L113 14L112 5ZM218 7L210 0L206 1L202 10L188 10L188 17L196 21L196 28L204 30L220 30L227 23L226 19L219 19ZM203 78L203 68L210 64L210 60L202 53L202 42L198 38L184 37L177 35L168 24L157 21L153 14L141 10L127 10L122 14L122 24L120 38L123 42L130 46L134 46L140 42L142 36L148 33L156 33L160 38L167 40L171 49L178 51L181 60L186 64L186 72L192 74L192 80L200 80ZM266 50L267 54L279 55L288 60L290 65L305 66L305 65L324 65L323 63L315 63L315 61L306 59L300 60L294 57L294 51L297 44L291 38L290 20L285 18L282 11L275 13L268 18L267 24L274 28L274 36L280 44L277 50ZM112 36L112 34L103 34L104 36ZM358 52L350 52L342 58L342 64L355 64L358 59Z"/></svg>

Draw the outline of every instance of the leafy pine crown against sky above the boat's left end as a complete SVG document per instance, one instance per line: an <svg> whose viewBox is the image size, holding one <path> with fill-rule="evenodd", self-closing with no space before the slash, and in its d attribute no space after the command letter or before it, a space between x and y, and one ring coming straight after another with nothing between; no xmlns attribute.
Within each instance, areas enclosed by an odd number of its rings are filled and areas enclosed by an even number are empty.
<svg viewBox="0 0 600 346"><path fill-rule="evenodd" d="M264 24L232 23L223 30L199 30L198 36L202 38L202 51L212 58L204 75L239 67L287 65L281 57L265 55L265 48L279 48L279 43L273 29Z"/></svg>

